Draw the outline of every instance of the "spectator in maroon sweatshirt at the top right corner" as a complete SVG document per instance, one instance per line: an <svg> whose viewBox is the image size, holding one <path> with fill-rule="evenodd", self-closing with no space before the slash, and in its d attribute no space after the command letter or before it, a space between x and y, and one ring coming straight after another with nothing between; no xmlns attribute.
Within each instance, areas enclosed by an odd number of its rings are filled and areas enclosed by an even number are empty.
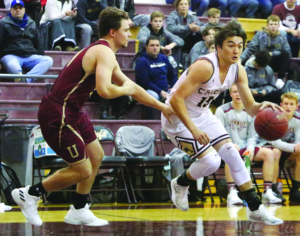
<svg viewBox="0 0 300 236"><path fill-rule="evenodd" d="M300 6L296 0L286 0L273 8L272 14L279 16L280 31L286 31L287 41L291 46L292 57L296 58L300 48Z"/></svg>

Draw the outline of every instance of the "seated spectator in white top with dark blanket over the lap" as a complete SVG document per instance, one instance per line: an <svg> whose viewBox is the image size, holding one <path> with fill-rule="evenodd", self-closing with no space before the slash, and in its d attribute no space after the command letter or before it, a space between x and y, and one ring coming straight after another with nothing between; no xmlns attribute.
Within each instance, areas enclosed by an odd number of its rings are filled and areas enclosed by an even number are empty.
<svg viewBox="0 0 300 236"><path fill-rule="evenodd" d="M47 0L45 13L40 21L40 32L44 34L44 49L55 51L76 51L75 22L77 10L72 9L72 1Z"/></svg>

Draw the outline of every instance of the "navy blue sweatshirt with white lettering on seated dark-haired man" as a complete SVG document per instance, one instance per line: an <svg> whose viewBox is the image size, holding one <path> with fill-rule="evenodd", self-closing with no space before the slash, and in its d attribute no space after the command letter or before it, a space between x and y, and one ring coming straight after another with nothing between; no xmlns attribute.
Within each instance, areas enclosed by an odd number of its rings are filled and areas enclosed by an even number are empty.
<svg viewBox="0 0 300 236"><path fill-rule="evenodd" d="M158 95L161 91L172 88L177 81L173 66L167 56L159 53L153 58L142 52L135 66L135 81L145 90L153 90Z"/></svg>

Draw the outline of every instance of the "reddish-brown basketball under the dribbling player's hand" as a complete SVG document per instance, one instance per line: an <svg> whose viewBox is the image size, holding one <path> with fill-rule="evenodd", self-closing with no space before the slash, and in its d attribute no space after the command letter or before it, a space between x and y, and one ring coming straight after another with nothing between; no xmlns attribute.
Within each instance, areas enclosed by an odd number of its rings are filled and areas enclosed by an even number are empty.
<svg viewBox="0 0 300 236"><path fill-rule="evenodd" d="M256 133L263 139L274 141L284 136L289 128L286 114L279 109L267 107L259 111L254 120Z"/></svg>

